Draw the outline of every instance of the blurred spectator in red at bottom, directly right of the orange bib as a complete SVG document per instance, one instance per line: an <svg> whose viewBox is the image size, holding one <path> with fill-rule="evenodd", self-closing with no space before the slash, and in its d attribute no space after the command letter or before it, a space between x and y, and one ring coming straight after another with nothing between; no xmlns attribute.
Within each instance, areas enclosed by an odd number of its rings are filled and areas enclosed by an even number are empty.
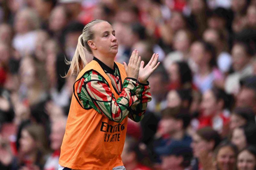
<svg viewBox="0 0 256 170"><path fill-rule="evenodd" d="M126 170L150 170L151 168L141 164L144 156L140 152L138 142L133 138L127 136L125 138L124 149L122 152L122 161Z"/></svg>

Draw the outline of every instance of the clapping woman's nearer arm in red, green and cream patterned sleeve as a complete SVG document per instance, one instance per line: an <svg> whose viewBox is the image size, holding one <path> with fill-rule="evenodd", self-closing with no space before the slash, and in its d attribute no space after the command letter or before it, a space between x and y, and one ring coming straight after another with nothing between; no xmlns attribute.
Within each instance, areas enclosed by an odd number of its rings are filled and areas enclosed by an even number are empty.
<svg viewBox="0 0 256 170"><path fill-rule="evenodd" d="M116 99L108 82L96 71L90 71L81 79L83 82L79 100L85 109L93 108L114 122L122 122L128 115L132 104L138 102L136 96L137 82L133 78L125 78L123 91Z"/></svg>

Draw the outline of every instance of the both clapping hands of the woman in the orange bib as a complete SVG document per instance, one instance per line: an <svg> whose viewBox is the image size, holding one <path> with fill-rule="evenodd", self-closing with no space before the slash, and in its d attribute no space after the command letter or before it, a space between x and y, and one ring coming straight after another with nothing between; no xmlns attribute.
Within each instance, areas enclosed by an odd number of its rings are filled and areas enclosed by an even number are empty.
<svg viewBox="0 0 256 170"><path fill-rule="evenodd" d="M124 62L127 77L135 78L140 83L146 83L149 76L156 70L160 62L157 63L158 54L153 54L148 64L144 67L139 52L135 49L132 52L128 65Z"/></svg>

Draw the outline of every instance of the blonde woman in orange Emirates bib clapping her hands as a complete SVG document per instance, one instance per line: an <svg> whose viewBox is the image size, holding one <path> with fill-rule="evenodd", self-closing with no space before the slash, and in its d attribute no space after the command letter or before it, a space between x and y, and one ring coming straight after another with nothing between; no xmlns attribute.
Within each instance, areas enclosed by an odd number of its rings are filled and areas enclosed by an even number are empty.
<svg viewBox="0 0 256 170"><path fill-rule="evenodd" d="M94 56L90 63L84 48ZM125 169L121 153L127 119L143 118L151 100L147 79L159 63L154 54L143 68L134 50L129 64L122 65L114 62L117 51L115 30L107 21L93 20L84 27L66 75L78 74L59 169Z"/></svg>

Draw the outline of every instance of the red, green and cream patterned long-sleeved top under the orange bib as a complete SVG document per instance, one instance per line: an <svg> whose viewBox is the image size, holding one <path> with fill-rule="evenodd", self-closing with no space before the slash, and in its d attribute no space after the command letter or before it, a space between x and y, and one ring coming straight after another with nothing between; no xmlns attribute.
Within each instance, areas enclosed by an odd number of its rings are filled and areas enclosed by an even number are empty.
<svg viewBox="0 0 256 170"><path fill-rule="evenodd" d="M132 78L125 78L122 84L117 65L114 66L115 70L110 70L111 73L109 69L103 68L119 98L115 98L103 76L90 70L81 78L76 89L80 103L84 109L93 108L111 121L122 122L128 115L133 121L139 122L144 116L147 102L151 101L149 85L137 83Z"/></svg>

